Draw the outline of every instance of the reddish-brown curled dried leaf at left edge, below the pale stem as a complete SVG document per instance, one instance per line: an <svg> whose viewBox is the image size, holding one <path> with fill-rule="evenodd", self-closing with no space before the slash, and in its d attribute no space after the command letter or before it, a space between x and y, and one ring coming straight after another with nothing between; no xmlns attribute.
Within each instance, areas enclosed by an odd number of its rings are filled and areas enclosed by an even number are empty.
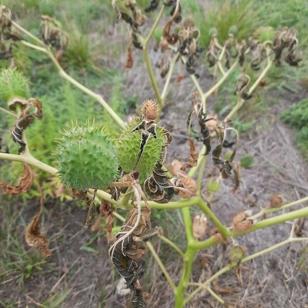
<svg viewBox="0 0 308 308"><path fill-rule="evenodd" d="M33 182L33 174L28 164L24 164L24 174L19 179L18 185L10 185L5 182L0 182L0 187L6 195L20 195L29 191Z"/></svg>

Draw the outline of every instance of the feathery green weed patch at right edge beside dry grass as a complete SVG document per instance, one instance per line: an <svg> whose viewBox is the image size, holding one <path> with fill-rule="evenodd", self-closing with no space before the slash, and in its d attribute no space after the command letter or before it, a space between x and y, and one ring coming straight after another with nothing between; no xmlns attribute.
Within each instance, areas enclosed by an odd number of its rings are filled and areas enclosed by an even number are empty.
<svg viewBox="0 0 308 308"><path fill-rule="evenodd" d="M296 144L308 158L308 99L304 99L280 113L281 119L296 128Z"/></svg>

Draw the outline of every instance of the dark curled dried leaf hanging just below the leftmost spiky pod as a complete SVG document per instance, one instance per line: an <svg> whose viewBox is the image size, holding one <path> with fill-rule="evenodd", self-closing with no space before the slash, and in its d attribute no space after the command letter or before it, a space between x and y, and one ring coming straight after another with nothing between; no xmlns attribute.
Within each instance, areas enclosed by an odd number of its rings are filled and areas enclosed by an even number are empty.
<svg viewBox="0 0 308 308"><path fill-rule="evenodd" d="M35 111L31 114L28 114L32 107L35 108ZM42 103L31 98L27 101L26 108L23 110L23 113L17 120L16 124L11 128L13 141L20 146L20 153L23 152L26 148L26 143L23 141L23 132L34 121L35 118L38 120L42 120L43 118Z"/></svg>

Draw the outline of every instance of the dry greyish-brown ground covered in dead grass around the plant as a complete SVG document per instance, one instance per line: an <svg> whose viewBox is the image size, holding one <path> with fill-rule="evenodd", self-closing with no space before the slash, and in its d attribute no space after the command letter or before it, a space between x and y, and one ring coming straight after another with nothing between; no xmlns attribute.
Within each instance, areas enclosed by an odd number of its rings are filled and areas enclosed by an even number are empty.
<svg viewBox="0 0 308 308"><path fill-rule="evenodd" d="M153 63L157 54L151 53ZM123 59L122 59L123 60ZM200 84L209 88L212 79L202 67ZM184 68L176 68L174 76L184 72ZM133 70L125 73L127 76L127 94L138 92L140 102L153 98L144 63L136 61ZM175 79L174 78L174 79ZM191 107L191 86L189 76L185 76L179 86L174 79L168 94L167 104L162 114L162 124L170 130L174 140L168 148L167 160L177 158L184 161L188 156L188 144L185 131L186 117ZM162 81L160 81L160 87ZM102 93L106 94L107 89ZM253 209L257 213L259 207L266 206L269 197L278 192L285 201L293 201L308 195L308 166L303 163L299 151L293 143L293 131L283 125L277 113L292 102L306 97L303 90L298 94L270 93L266 95L268 110L263 115L263 121L257 119L257 124L240 136L237 160L241 155L249 153L255 158L252 169L242 169L241 185L236 194L232 194L230 183L224 181L217 198L211 203L211 208L223 223L230 225L232 217L241 210ZM279 101L277 104L276 101ZM209 109L213 107L215 97L208 100ZM275 103L273 103L275 102ZM265 118L264 118L265 117ZM213 170L210 159L206 172ZM250 197L255 204L242 201ZM0 197L2 208L1 221L10 226L9 230L1 229L20 240L21 246L30 255L35 249L29 249L24 240L25 225L36 213L38 203L18 202L14 199L5 202ZM298 205L296 208L304 206ZM109 257L108 245L104 235L90 242L95 236L90 230L83 228L85 210L77 208L73 203L62 203L59 200L46 202L43 218L43 229L47 232L52 248L52 256L42 265L44 270L48 264L54 263L52 272L38 272L18 285L14 277L6 277L0 284L0 299L3 302L16 303L17 307L36 307L52 295L59 296L61 292L70 290L63 302L65 308L86 307L129 307L128 296L121 296L116 290L119 275L115 272ZM169 211L170 223L163 219L166 214L155 211L155 225L163 225L165 233L172 239L177 238L180 246L185 246L184 226L179 211ZM163 218L159 219L159 215ZM246 247L247 254L271 246L285 239L291 230L292 223L286 222L256 233L236 239ZM308 225L304 225L303 235L308 234ZM87 244L88 243L88 244ZM87 244L96 252L85 251ZM180 259L170 249L159 242L155 247L166 262L166 268L175 281L179 279ZM221 276L214 284L214 290L230 303L230 306L245 308L304 308L307 307L307 267L298 267L302 257L304 244L292 244L264 255L243 267L243 285L237 280L235 273ZM194 281L204 281L228 262L228 247L219 245L208 251L202 251L196 257L196 266L192 273ZM199 262L207 257L208 262ZM305 256L306 257L306 256ZM162 272L151 256L147 255L141 261L140 278L144 286L147 307L172 307L173 295ZM3 277L0 276L0 279ZM0 304L1 305L1 304ZM60 305L61 306L61 305ZM201 293L196 300L189 303L191 308L220 307L207 293Z"/></svg>

